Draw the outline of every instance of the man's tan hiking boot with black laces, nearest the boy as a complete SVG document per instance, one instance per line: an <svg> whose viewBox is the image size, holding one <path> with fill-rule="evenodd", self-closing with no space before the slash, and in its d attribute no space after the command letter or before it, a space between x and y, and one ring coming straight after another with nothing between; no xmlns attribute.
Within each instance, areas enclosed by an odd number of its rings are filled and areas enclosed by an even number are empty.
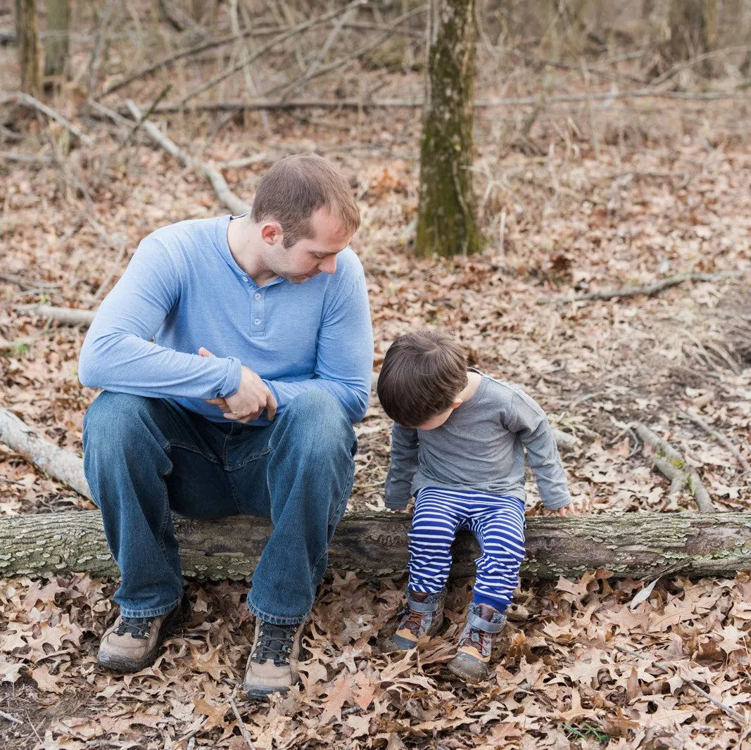
<svg viewBox="0 0 751 750"><path fill-rule="evenodd" d="M260 617L255 619L253 650L243 682L249 698L285 693L297 682L297 661L304 626L304 622L300 625L274 625Z"/></svg>

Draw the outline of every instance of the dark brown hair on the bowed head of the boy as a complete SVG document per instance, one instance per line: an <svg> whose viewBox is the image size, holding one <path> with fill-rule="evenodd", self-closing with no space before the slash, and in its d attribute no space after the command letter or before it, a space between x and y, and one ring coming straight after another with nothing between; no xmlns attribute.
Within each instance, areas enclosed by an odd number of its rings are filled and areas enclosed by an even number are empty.
<svg viewBox="0 0 751 750"><path fill-rule="evenodd" d="M466 354L439 331L400 336L386 352L378 397L386 414L403 427L418 427L451 408L467 385Z"/></svg>

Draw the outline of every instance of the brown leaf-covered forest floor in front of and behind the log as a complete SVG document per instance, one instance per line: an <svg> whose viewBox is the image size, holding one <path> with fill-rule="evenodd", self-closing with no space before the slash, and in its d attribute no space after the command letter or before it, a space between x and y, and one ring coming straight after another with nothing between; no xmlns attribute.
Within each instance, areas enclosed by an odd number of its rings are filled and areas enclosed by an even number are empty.
<svg viewBox="0 0 751 750"><path fill-rule="evenodd" d="M533 93L538 84L528 75L512 93L528 93L524 85ZM146 82L130 95L144 105L160 86ZM379 95L418 95L420 86L418 74L392 73ZM581 81L561 74L556 89L579 91ZM70 97L60 95L56 106L75 115ZM282 155L315 149L334 161L360 203L353 247L369 285L376 369L400 333L450 330L473 365L520 384L580 438L563 459L587 512L694 508L690 495L671 493L653 471L635 423L683 453L717 511L749 510L751 475L685 414L751 461L751 100L550 104L524 143L509 146L528 111L478 110L475 185L487 247L451 260L410 254L419 110L159 120L245 200ZM26 140L14 150L41 161L0 161L0 402L80 453L83 414L96 395L77 379L85 330L17 306L44 300L94 309L141 237L226 210L203 176L143 131L124 145L122 128L76 122L91 146L32 116L20 121ZM251 155L260 155L254 164L223 165ZM689 272L727 275L653 297L540 301ZM388 430L374 399L357 426L352 511L383 509ZM529 508L536 505L530 482ZM93 507L0 445L0 513ZM240 750L249 746L240 722L259 750L751 742L749 724L740 727L686 685L692 680L748 716L749 574L668 577L638 604L632 599L650 582L603 571L524 581L517 601L529 619L509 625L492 679L478 686L444 668L469 601L465 580L452 586L448 629L424 652L379 654L375 636L404 583L330 571L311 617L302 685L254 704L240 689L252 641L241 583L188 583L192 621L152 668L123 677L95 663L98 637L116 616L116 581L0 580L0 710L20 721L0 716L2 746ZM670 673L617 645L668 664Z"/></svg>

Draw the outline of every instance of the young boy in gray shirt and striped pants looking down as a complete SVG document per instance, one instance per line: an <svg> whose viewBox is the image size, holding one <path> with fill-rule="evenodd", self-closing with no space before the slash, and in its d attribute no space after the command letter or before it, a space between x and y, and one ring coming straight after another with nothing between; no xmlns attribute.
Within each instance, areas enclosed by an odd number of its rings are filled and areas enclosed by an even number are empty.
<svg viewBox="0 0 751 750"><path fill-rule="evenodd" d="M443 333L400 336L386 353L378 395L395 422L386 507L402 510L415 495L407 602L382 651L411 649L439 630L451 542L466 528L481 556L448 668L477 682L490 674L493 638L505 625L524 557L525 447L545 508L574 512L553 432L518 387L468 371L462 349Z"/></svg>

